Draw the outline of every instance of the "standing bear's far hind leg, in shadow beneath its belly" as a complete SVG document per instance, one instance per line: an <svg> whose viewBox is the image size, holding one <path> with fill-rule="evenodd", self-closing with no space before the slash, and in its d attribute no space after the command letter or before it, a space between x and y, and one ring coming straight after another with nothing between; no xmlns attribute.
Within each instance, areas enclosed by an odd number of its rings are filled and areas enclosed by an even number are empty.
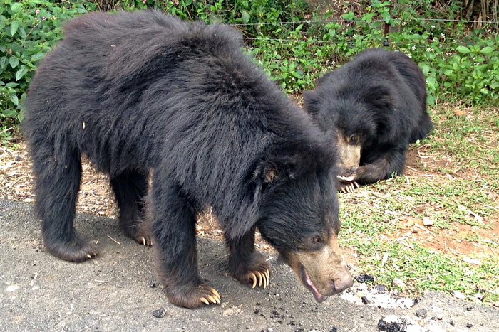
<svg viewBox="0 0 499 332"><path fill-rule="evenodd" d="M148 173L128 171L110 180L120 208L120 226L125 235L143 245L152 245L143 219L144 198L148 194Z"/></svg>

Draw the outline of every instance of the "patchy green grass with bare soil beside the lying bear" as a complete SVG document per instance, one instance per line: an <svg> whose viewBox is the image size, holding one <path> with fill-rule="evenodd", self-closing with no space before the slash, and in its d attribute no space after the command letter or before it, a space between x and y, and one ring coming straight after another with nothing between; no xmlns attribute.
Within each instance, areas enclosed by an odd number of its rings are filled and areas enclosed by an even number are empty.
<svg viewBox="0 0 499 332"><path fill-rule="evenodd" d="M435 130L411 147L418 166L406 176L339 194L340 241L379 284L398 277L411 296L461 291L497 303L499 113L456 109L432 110Z"/></svg>

